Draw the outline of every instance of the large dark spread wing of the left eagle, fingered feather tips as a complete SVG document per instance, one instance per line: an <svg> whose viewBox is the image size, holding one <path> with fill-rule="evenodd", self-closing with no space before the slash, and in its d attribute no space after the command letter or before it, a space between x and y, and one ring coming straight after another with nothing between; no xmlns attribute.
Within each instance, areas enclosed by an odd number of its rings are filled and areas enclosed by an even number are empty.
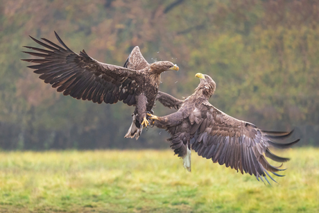
<svg viewBox="0 0 319 213"><path fill-rule="evenodd" d="M85 51L80 54L71 51L60 39L62 46L42 38L46 43L31 37L37 44L46 47L39 49L24 46L37 52L28 52L32 56L43 59L22 59L39 65L28 66L36 69L39 78L57 88L58 92L70 95L76 99L93 101L94 103L117 103L123 101L128 105L135 105L135 92L139 85L141 71L135 71L115 65L108 65L89 57Z"/></svg>

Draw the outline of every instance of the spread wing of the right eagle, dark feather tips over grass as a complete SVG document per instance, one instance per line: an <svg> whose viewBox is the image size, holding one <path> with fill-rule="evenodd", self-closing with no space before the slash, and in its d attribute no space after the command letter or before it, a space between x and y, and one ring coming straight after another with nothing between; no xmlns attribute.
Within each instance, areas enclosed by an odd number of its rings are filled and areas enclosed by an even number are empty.
<svg viewBox="0 0 319 213"><path fill-rule="evenodd" d="M198 155L212 159L213 162L225 164L237 171L245 171L254 174L259 180L266 175L272 180L268 171L279 176L279 167L273 167L265 158L269 157L277 162L286 162L288 158L279 157L270 152L268 146L276 148L288 148L299 141L288 144L272 142L271 139L283 139L291 133L277 133L259 130L254 124L234 119L229 115L214 108L208 101L202 104L200 113L189 116L193 117L191 126L191 148ZM195 110L194 110L195 111ZM263 180L261 178L261 180ZM264 180L263 180L264 181ZM274 180L275 181L275 180Z"/></svg>

